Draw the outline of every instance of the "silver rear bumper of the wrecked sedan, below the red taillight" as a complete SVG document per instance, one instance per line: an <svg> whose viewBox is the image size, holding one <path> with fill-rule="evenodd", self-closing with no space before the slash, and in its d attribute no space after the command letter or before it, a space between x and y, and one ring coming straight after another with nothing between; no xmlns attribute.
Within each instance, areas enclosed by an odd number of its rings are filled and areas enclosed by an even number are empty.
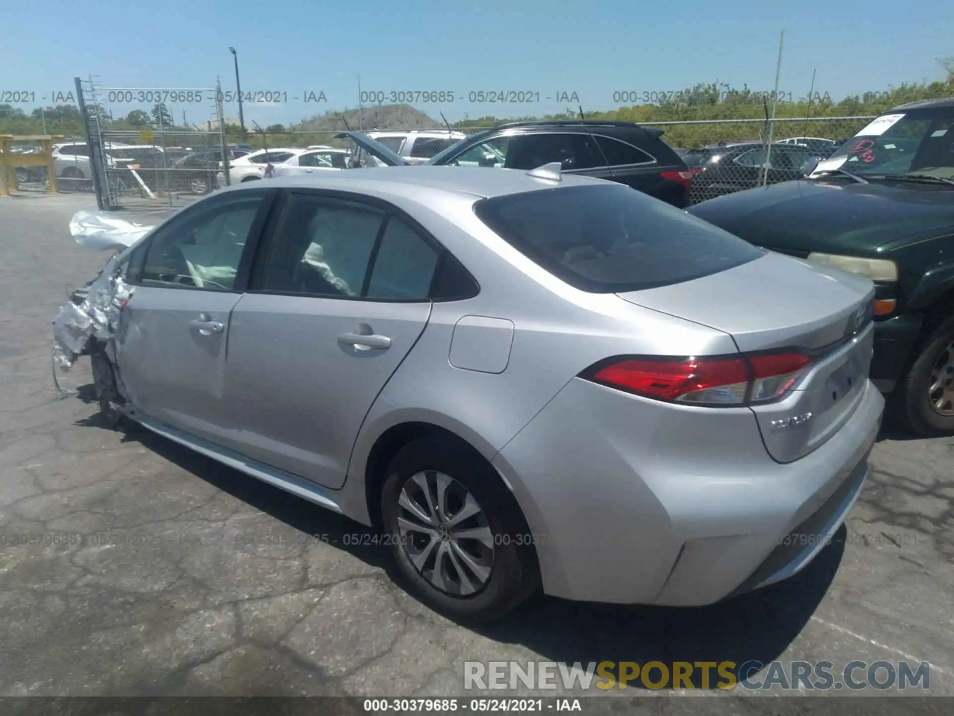
<svg viewBox="0 0 954 716"><path fill-rule="evenodd" d="M527 517L548 594L703 605L818 554L861 492L883 406L867 383L839 432L779 464L749 409L714 419L576 379L493 462Z"/></svg>

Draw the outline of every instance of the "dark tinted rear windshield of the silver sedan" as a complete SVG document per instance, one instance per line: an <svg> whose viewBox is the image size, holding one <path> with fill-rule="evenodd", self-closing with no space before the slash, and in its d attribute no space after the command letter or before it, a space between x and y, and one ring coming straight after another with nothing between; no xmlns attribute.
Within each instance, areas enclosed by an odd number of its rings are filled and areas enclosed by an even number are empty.
<svg viewBox="0 0 954 716"><path fill-rule="evenodd" d="M477 217L530 260L592 293L708 276L763 255L750 243L620 184L480 200Z"/></svg>

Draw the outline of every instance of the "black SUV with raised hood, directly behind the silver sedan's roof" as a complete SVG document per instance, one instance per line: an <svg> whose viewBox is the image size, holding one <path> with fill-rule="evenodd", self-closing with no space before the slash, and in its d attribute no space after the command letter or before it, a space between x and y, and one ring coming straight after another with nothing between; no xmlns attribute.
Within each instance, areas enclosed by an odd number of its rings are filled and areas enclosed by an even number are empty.
<svg viewBox="0 0 954 716"><path fill-rule="evenodd" d="M510 122L461 139L426 163L529 170L558 161L565 173L616 181L684 208L693 175L662 134L634 122ZM380 143L361 133L338 137L351 137L386 164L407 163L393 152L382 156Z"/></svg>

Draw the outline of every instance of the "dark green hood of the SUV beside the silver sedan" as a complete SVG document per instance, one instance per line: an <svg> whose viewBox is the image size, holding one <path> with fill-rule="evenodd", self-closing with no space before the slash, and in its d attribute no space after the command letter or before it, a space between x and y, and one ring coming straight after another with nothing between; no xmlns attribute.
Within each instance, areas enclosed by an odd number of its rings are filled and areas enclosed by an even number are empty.
<svg viewBox="0 0 954 716"><path fill-rule="evenodd" d="M954 229L954 191L850 179L785 181L703 201L690 214L747 242L807 255L869 254Z"/></svg>

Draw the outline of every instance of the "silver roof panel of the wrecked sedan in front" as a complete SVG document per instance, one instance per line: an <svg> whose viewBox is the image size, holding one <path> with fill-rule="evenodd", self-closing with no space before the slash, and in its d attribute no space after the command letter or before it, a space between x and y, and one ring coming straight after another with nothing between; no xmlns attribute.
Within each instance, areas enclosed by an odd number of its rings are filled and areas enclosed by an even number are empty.
<svg viewBox="0 0 954 716"><path fill-rule="evenodd" d="M540 189L563 186L608 184L612 181L564 174L559 182L529 176L522 169L488 169L487 167L431 166L417 164L397 167L351 169L334 173L333 177L308 175L306 177L277 177L269 179L270 186L285 189L338 189L359 194L407 194L408 187L423 189L426 193L468 195L482 199L507 194L520 194ZM258 182L251 182L261 188ZM221 191L248 189L249 183L237 184Z"/></svg>

